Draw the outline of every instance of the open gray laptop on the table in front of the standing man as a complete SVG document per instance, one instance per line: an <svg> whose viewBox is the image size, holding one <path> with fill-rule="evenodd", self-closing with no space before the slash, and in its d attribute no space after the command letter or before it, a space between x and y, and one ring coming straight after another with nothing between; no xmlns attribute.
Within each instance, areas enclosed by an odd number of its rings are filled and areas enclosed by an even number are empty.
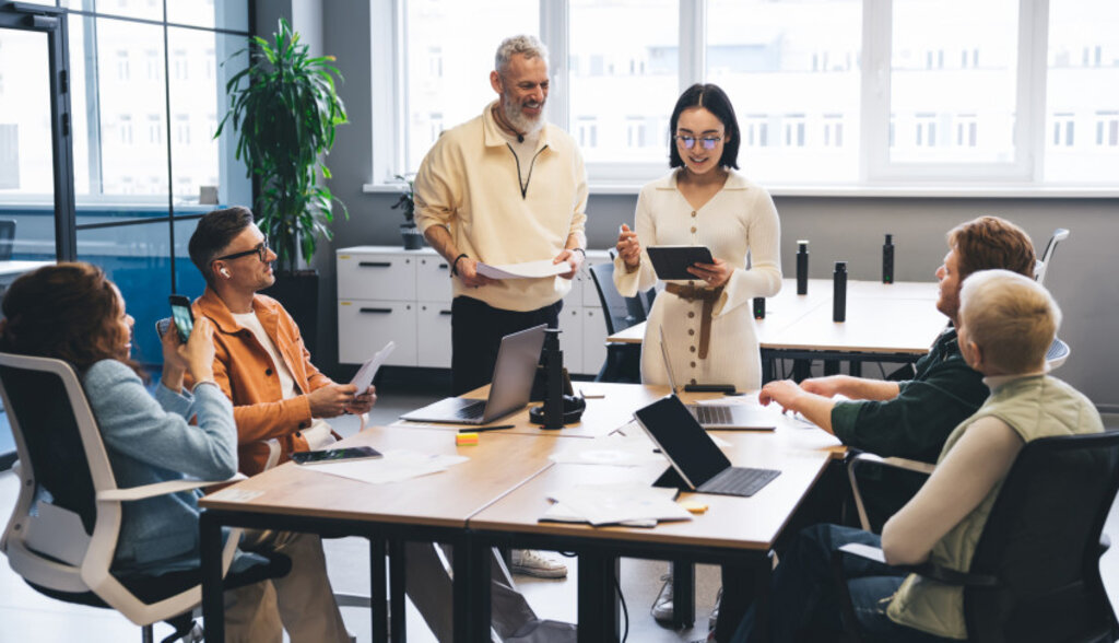
<svg viewBox="0 0 1119 643"><path fill-rule="evenodd" d="M426 407L404 413L401 419L419 422L485 425L524 408L533 390L536 364L544 347L540 324L501 338L489 397L485 400L444 398Z"/></svg>

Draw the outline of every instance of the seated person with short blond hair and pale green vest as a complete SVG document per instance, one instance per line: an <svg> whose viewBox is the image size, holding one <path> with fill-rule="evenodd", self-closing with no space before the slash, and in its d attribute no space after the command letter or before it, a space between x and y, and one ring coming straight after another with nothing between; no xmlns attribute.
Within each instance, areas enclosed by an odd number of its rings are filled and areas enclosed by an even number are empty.
<svg viewBox="0 0 1119 643"><path fill-rule="evenodd" d="M838 635L840 607L829 566L831 552L844 544L881 547L890 565L931 561L967 571L1003 479L1023 446L1044 437L1103 430L1088 398L1045 374L1045 352L1060 319L1050 293L1021 274L987 270L963 282L960 350L985 375L990 397L951 432L932 476L886 522L881 538L833 524L797 535L771 584L772 641L796 641L806 626L827 640ZM852 600L867 640L967 639L962 587L946 590L943 584L869 561L845 562L845 570L853 579ZM761 640L752 636L754 617L751 608L734 641Z"/></svg>

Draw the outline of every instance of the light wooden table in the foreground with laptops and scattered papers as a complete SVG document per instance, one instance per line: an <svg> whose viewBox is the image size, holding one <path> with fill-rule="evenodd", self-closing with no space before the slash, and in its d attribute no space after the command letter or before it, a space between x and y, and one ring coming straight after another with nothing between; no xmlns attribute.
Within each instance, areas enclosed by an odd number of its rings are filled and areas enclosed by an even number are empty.
<svg viewBox="0 0 1119 643"><path fill-rule="evenodd" d="M579 640L605 641L618 634L614 583L620 557L688 560L754 568L768 587L770 556L798 506L841 454L838 440L815 427L782 417L772 432L720 431L724 449L739 466L778 468L781 475L752 497L699 495L707 512L686 522L653 529L592 528L540 523L551 491L574 484L622 481L651 484L666 463L638 467L557 464L548 456L582 440L602 437L633 410L667 393L665 386L585 383L602 398L587 399L580 425L545 431L528 422L527 409L501 421L514 429L483 432L478 446L455 447L458 427L373 427L339 446L405 448L423 454L460 454L469 460L445 472L398 483L370 485L288 463L226 487L200 501L203 613L206 640L224 641L220 548L223 526L279 529L369 539L375 641L404 641L404 541L449 543L454 549L455 641L489 641L489 555L495 546L543 548L579 553ZM480 389L471 397L485 395ZM690 399L717 397L687 394ZM633 427L637 430L640 430ZM583 442L586 444L586 442ZM681 498L693 496L683 493ZM385 591L385 552L389 559ZM764 599L764 591L761 593ZM388 603L393 614L386 619Z"/></svg>

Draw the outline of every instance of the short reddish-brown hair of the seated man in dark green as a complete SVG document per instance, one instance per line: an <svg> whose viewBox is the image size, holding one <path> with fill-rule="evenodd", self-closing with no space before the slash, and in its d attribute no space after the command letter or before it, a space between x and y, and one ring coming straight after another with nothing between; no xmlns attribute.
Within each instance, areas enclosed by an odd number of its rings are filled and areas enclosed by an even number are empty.
<svg viewBox="0 0 1119 643"><path fill-rule="evenodd" d="M948 232L948 245L956 251L960 282L972 272L996 268L1034 277L1034 243L1005 218L980 216L961 223Z"/></svg>

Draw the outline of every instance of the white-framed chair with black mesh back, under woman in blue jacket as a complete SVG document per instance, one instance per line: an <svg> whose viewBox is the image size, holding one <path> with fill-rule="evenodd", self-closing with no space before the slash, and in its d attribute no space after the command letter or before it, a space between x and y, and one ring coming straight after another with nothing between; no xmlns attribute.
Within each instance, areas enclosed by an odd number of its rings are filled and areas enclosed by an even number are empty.
<svg viewBox="0 0 1119 643"><path fill-rule="evenodd" d="M0 395L9 413L19 462L19 497L0 540L8 563L36 590L67 603L116 609L142 626L166 621L176 628L164 639L189 635L192 609L201 600L198 569L160 576L123 575L110 567L116 550L122 505L215 484L170 481L120 488L96 419L77 373L66 362L0 353ZM228 538L228 570L241 530ZM229 574L227 589L288 574L291 561L270 555L266 562Z"/></svg>

